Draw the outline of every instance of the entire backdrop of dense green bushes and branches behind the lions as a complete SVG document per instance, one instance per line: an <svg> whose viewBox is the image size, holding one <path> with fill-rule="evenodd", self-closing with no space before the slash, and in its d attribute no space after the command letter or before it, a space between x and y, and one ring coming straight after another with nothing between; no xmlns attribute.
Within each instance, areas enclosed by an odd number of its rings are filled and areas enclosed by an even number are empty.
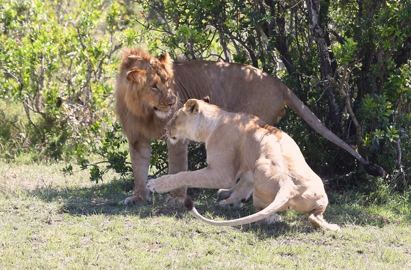
<svg viewBox="0 0 411 270"><path fill-rule="evenodd" d="M106 169L129 173L113 86L121 49L131 46L280 77L390 173L371 187L410 184L410 0L1 1L0 158L76 158L97 181ZM354 158L297 114L288 111L279 127L320 175L366 182ZM153 143L154 174L166 172L164 150ZM204 165L201 147L190 153L192 169Z"/></svg>

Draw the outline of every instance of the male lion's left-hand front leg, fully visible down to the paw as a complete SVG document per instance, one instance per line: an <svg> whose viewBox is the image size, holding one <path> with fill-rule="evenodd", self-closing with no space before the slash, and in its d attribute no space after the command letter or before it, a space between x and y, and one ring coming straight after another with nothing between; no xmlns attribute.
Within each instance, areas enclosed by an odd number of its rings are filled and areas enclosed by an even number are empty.
<svg viewBox="0 0 411 270"><path fill-rule="evenodd" d="M147 175L150 164L150 140L138 138L129 140L129 152L132 159L134 194L124 200L127 206L142 205L149 201L150 191L147 188Z"/></svg>

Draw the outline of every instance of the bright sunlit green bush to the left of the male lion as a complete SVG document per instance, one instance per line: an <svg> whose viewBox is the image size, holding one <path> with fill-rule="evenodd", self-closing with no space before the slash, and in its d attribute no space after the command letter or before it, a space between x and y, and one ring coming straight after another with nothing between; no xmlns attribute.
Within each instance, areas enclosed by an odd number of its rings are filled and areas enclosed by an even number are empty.
<svg viewBox="0 0 411 270"><path fill-rule="evenodd" d="M128 3L3 1L0 10L0 99L20 103L25 115L18 115L24 136L4 134L16 142L1 158L36 152L34 161L60 160L88 151L84 143L98 141L114 119L119 49L132 44L133 32L121 31Z"/></svg>

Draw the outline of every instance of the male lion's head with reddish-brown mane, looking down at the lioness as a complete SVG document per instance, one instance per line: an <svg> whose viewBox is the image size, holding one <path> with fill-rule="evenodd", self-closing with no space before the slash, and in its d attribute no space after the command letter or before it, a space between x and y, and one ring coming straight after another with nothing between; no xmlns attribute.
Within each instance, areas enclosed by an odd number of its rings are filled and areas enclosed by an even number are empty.
<svg viewBox="0 0 411 270"><path fill-rule="evenodd" d="M127 109L136 116L169 116L177 103L177 95L170 88L172 65L168 54L153 58L140 49L125 51L116 87Z"/></svg>

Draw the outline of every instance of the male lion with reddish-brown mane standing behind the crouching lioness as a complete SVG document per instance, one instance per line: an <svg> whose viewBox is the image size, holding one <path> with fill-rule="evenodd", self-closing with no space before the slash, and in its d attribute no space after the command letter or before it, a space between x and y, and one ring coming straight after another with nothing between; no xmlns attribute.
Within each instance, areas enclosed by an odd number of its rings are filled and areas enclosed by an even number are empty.
<svg viewBox="0 0 411 270"><path fill-rule="evenodd" d="M213 103L234 112L247 112L274 125L292 108L328 140L349 151L367 173L385 175L381 167L367 164L347 143L327 127L279 79L246 64L188 61L173 66L167 54L153 58L146 51L127 49L123 53L116 82L116 114L129 141L134 177L134 195L125 204L145 204L151 138L161 138L164 125L177 108L177 100L200 99L208 95ZM188 140L168 144L169 173L187 170ZM243 175L247 177L247 175ZM171 192L184 200L186 188Z"/></svg>

